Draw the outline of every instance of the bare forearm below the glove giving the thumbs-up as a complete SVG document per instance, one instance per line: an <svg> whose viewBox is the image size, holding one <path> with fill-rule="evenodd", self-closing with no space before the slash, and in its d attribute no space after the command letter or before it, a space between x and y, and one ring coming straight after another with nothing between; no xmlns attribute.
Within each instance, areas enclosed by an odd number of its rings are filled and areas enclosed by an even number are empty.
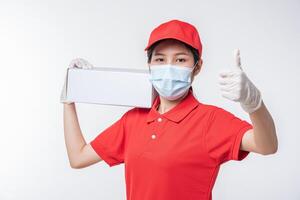
<svg viewBox="0 0 300 200"><path fill-rule="evenodd" d="M259 152L275 153L278 148L275 124L264 102L258 110L250 114L250 119L253 125L254 141Z"/></svg>

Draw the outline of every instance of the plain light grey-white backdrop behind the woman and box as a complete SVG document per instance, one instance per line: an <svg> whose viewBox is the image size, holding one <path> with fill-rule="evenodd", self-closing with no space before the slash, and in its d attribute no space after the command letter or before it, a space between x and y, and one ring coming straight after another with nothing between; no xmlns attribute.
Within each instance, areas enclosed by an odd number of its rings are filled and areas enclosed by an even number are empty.
<svg viewBox="0 0 300 200"><path fill-rule="evenodd" d="M124 165L70 168L59 96L71 59L146 68L150 31L176 18L203 42L197 98L249 120L221 97L218 71L240 48L277 127L277 154L222 166L213 199L300 199L299 1L0 1L0 199L125 199ZM108 86L109 87L109 86ZM87 142L128 107L78 104Z"/></svg>

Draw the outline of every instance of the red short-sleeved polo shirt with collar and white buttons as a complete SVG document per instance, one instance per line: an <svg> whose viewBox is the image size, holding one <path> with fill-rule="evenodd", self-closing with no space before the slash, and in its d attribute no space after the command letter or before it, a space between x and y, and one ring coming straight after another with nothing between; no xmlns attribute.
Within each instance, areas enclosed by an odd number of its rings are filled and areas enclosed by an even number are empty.
<svg viewBox="0 0 300 200"><path fill-rule="evenodd" d="M247 121L187 96L164 114L132 108L91 146L110 166L124 163L127 200L211 200L220 165L242 160Z"/></svg>

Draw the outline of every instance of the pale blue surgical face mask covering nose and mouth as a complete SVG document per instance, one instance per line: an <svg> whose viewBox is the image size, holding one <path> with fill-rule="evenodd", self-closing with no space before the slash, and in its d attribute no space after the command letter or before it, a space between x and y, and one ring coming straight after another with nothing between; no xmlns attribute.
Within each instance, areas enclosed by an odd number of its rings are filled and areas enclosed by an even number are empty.
<svg viewBox="0 0 300 200"><path fill-rule="evenodd" d="M198 63L198 61L197 61ZM193 67L177 65L152 65L149 81L162 97L176 100L182 97L190 88Z"/></svg>

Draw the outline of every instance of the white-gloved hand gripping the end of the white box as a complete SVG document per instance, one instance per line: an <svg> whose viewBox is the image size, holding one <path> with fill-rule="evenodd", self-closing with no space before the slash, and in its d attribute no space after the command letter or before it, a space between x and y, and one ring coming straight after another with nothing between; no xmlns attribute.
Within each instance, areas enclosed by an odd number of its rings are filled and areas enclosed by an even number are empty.
<svg viewBox="0 0 300 200"><path fill-rule="evenodd" d="M82 68L82 69L92 69L94 66L92 64L90 64L87 60L84 60L83 58L75 58L73 59L68 68ZM67 81L67 74L65 76L65 82L61 91L61 95L60 95L60 102L61 103L66 103L66 104L71 104L74 103L72 101L68 101L67 100L67 85L66 85L66 81Z"/></svg>

